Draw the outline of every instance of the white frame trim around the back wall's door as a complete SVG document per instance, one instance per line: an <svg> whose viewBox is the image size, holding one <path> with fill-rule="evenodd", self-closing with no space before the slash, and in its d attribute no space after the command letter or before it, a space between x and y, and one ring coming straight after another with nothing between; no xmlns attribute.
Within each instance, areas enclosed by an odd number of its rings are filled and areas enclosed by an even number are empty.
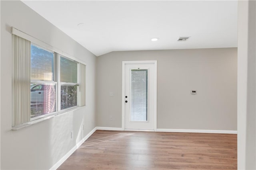
<svg viewBox="0 0 256 170"><path fill-rule="evenodd" d="M122 61L122 130L124 131L124 66L125 64L154 64L154 131L157 128L157 61ZM136 129L135 129L136 131ZM140 130L143 131L143 130Z"/></svg>

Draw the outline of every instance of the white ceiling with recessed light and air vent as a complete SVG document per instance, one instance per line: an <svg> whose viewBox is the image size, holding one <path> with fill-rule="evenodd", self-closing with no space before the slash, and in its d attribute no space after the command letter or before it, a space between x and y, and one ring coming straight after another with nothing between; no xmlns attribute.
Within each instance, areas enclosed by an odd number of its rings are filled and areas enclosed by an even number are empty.
<svg viewBox="0 0 256 170"><path fill-rule="evenodd" d="M22 2L96 56L111 51L237 47L237 1ZM177 42L180 36L190 38ZM154 37L159 40L151 41Z"/></svg>

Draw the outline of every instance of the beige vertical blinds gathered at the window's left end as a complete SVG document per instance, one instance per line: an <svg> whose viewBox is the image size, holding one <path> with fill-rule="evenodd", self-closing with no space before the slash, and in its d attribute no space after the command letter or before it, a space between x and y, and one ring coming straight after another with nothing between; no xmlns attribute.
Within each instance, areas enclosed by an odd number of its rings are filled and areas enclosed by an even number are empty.
<svg viewBox="0 0 256 170"><path fill-rule="evenodd" d="M14 35L13 126L30 121L30 41Z"/></svg>

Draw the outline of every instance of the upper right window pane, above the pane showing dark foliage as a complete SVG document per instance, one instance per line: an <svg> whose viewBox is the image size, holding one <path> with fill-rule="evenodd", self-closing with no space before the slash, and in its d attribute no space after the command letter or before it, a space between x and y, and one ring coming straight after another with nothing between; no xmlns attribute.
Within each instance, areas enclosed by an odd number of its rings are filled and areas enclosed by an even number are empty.
<svg viewBox="0 0 256 170"><path fill-rule="evenodd" d="M77 83L77 63L60 57L60 81Z"/></svg>

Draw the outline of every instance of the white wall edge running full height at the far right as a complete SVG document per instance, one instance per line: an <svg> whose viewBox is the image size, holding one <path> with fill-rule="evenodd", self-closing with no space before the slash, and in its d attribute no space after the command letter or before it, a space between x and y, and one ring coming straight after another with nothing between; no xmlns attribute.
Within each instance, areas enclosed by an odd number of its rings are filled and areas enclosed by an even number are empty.
<svg viewBox="0 0 256 170"><path fill-rule="evenodd" d="M256 169L256 1L238 1L238 169Z"/></svg>

